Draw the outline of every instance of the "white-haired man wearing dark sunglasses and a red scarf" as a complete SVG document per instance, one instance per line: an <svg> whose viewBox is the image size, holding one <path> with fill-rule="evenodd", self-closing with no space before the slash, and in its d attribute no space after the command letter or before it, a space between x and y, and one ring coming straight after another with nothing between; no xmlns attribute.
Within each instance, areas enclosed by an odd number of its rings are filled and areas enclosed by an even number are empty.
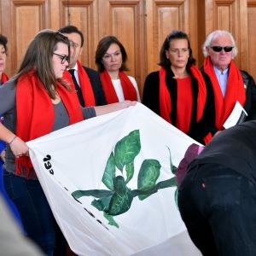
<svg viewBox="0 0 256 256"><path fill-rule="evenodd" d="M256 87L253 78L236 67L236 42L230 32L216 30L203 45L206 59L201 68L212 81L216 131L222 131L236 102L247 111L247 120L256 119ZM216 132L213 131L212 133Z"/></svg>

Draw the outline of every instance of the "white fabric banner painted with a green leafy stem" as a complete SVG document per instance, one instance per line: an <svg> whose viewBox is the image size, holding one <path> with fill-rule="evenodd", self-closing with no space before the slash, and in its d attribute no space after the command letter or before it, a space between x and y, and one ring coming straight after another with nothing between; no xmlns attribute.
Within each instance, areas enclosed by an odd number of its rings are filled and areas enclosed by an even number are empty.
<svg viewBox="0 0 256 256"><path fill-rule="evenodd" d="M140 103L28 142L79 255L201 255L177 209L175 172L196 143Z"/></svg>

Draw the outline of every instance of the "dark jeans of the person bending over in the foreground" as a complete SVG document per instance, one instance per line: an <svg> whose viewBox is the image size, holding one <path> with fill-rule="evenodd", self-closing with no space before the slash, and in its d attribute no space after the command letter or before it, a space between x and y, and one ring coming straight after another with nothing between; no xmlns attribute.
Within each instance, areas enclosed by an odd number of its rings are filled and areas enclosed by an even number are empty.
<svg viewBox="0 0 256 256"><path fill-rule="evenodd" d="M217 164L195 166L178 190L178 207L203 255L256 255L256 187L247 177Z"/></svg>

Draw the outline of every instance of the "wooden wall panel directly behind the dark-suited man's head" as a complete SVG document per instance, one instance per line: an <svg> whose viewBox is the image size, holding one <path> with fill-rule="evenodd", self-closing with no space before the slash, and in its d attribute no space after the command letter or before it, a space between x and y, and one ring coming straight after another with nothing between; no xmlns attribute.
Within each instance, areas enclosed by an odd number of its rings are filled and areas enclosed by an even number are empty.
<svg viewBox="0 0 256 256"><path fill-rule="evenodd" d="M77 26L84 34L84 47L80 61L87 67L95 68L95 49L98 40L96 0L61 1L61 26Z"/></svg>

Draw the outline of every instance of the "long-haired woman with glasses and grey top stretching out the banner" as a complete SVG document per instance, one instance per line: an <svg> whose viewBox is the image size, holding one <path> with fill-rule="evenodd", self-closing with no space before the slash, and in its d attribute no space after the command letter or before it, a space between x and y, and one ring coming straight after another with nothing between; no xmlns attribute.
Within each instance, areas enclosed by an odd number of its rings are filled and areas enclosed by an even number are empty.
<svg viewBox="0 0 256 256"><path fill-rule="evenodd" d="M55 250L55 218L33 170L26 142L85 117L135 104L125 101L82 108L73 84L66 79L69 44L60 32L39 32L26 49L18 73L0 88L0 116L4 116L0 139L7 143L4 186L20 212L27 236L47 255Z"/></svg>

